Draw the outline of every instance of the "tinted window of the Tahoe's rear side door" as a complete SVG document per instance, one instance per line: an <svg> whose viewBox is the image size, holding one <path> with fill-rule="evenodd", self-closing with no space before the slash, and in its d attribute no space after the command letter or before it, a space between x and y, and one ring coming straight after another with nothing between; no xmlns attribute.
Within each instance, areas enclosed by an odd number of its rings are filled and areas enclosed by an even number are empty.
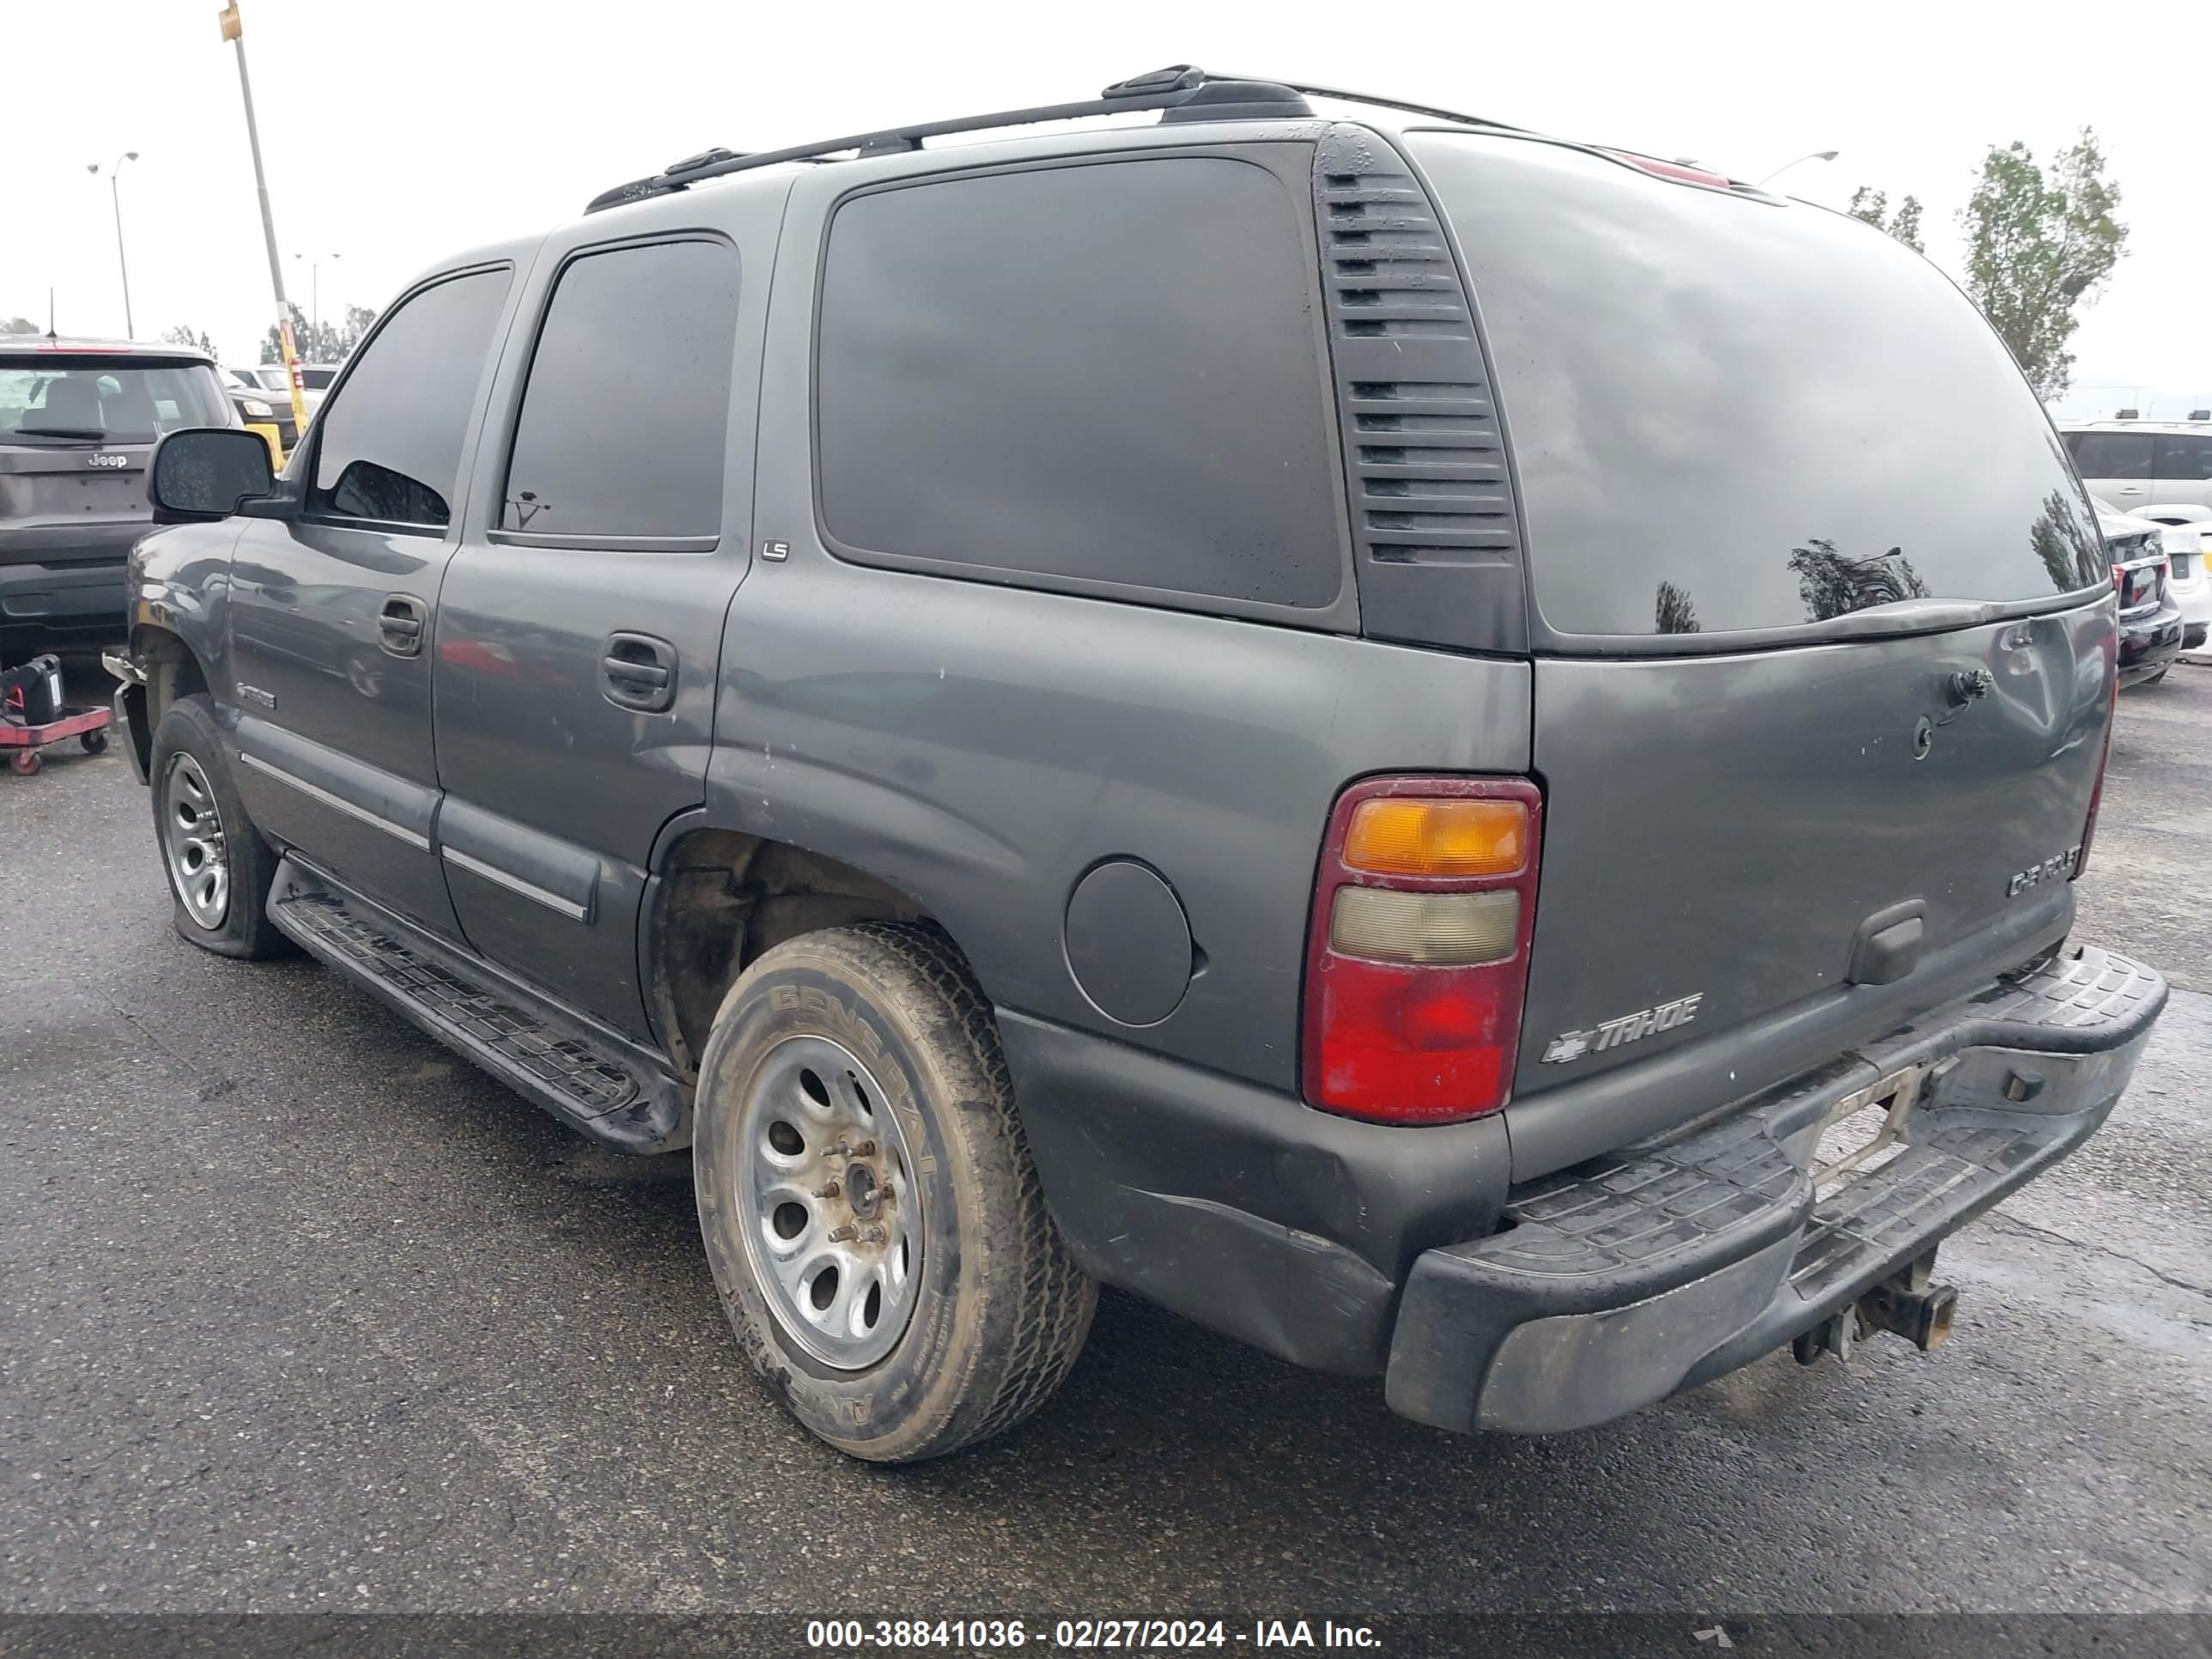
<svg viewBox="0 0 2212 1659"><path fill-rule="evenodd" d="M500 526L540 535L721 533L737 250L617 248L553 290Z"/></svg>

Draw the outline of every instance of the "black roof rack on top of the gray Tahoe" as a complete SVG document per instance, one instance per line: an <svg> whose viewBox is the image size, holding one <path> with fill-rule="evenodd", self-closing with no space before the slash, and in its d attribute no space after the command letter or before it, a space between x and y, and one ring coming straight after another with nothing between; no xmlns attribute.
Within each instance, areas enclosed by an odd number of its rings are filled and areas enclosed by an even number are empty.
<svg viewBox="0 0 2212 1659"><path fill-rule="evenodd" d="M1332 86L1296 86L1292 82L1259 80L1252 75L1208 75L1190 64L1170 64L1148 75L1133 75L1115 82L1097 97L1079 104L1040 104L1037 108L995 111L991 115L962 115L951 122L925 122L920 126L887 126L880 133L849 133L845 137L821 139L816 144L794 144L785 150L701 150L646 179L617 184L602 190L584 212L619 208L626 201L686 190L701 179L721 179L730 173L779 166L781 161L818 161L845 150L858 155L898 155L922 148L922 139L949 137L953 133L982 133L993 126L1035 126L1040 122L1075 122L1086 115L1126 115L1130 111L1164 111L1166 122L1250 122L1250 119L1312 119L1314 111L1303 95L1334 97L1347 104L1374 104L1411 115L1433 115L1444 122L1467 126L1493 126L1506 133L1520 128L1502 122L1486 122L1480 115L1455 115L1429 104L1407 104L1394 97L1369 97L1367 93L1340 93Z"/></svg>

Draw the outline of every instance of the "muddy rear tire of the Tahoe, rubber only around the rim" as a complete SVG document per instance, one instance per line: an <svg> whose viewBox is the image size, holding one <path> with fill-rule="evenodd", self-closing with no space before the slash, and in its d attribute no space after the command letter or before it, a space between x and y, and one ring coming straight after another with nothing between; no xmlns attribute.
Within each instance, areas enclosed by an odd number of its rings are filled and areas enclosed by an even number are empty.
<svg viewBox="0 0 2212 1659"><path fill-rule="evenodd" d="M821 1040L858 1057L887 1097L920 1203L907 1323L858 1369L794 1340L792 1314L776 1312L792 1303L743 1234L772 1225L741 1141L765 1133L770 1082L779 1064L787 1071L772 1055L794 1044L821 1053ZM1044 1208L991 1006L936 929L836 927L748 967L701 1055L692 1159L699 1228L739 1345L792 1416L841 1451L918 1462L1002 1433L1053 1396L1082 1352L1097 1283Z"/></svg>

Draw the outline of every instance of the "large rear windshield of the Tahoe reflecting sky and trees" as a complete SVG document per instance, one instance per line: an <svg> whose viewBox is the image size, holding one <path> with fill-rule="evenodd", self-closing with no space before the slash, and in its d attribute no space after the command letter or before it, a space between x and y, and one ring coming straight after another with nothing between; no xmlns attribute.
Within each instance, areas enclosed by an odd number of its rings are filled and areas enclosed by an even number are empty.
<svg viewBox="0 0 2212 1659"><path fill-rule="evenodd" d="M2042 405L1882 232L1557 144L1411 133L1467 252L1559 633L2106 582Z"/></svg>

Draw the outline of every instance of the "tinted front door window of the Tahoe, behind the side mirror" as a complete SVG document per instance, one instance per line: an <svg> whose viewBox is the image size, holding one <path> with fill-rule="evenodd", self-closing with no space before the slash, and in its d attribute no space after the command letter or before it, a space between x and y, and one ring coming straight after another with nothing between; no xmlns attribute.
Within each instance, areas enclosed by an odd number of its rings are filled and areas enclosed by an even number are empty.
<svg viewBox="0 0 2212 1659"><path fill-rule="evenodd" d="M323 405L312 511L414 526L453 518L460 440L504 303L507 272L484 270L392 312Z"/></svg>

